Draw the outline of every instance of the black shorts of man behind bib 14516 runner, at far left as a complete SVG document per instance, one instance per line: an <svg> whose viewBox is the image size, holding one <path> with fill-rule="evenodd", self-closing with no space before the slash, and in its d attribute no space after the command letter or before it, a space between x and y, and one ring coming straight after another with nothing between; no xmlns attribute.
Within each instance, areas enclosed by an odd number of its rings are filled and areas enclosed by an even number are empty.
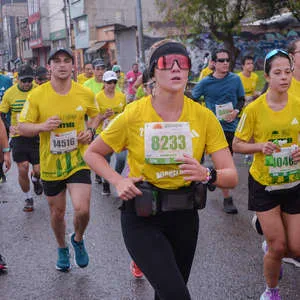
<svg viewBox="0 0 300 300"><path fill-rule="evenodd" d="M40 163L40 139L35 137L17 136L11 139L13 160L16 163L24 161L30 162L32 165Z"/></svg>

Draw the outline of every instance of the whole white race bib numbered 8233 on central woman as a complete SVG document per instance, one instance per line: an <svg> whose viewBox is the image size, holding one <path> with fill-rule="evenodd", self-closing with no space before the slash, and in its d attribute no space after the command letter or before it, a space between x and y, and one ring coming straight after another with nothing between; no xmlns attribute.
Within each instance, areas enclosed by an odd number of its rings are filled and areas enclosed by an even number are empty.
<svg viewBox="0 0 300 300"><path fill-rule="evenodd" d="M193 155L188 122L153 122L145 124L145 161L149 164L179 164L176 158Z"/></svg>

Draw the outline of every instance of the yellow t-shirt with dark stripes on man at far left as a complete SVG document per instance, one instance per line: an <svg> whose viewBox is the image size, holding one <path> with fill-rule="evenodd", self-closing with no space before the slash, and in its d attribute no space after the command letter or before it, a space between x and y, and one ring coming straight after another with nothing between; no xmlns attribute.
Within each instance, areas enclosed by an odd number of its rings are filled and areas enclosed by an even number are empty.
<svg viewBox="0 0 300 300"><path fill-rule="evenodd" d="M32 86L32 89L33 88L35 88L34 85ZM23 105L32 89L25 92L19 89L18 84L15 84L4 93L2 102L0 103L0 112L11 112L12 126L16 126L18 124Z"/></svg>

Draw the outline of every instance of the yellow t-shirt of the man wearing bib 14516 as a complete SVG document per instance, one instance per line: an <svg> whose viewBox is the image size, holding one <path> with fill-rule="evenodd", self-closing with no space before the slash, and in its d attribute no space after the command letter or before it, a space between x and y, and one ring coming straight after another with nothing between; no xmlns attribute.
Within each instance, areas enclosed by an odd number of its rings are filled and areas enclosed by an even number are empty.
<svg viewBox="0 0 300 300"><path fill-rule="evenodd" d="M84 116L93 118L99 113L94 94L77 82L67 95L59 95L51 82L37 87L27 98L21 112L20 122L43 123L49 117L59 116L59 128L52 132L40 133L40 167L43 180L63 180L81 169L89 169L83 160L88 145L78 144L77 148L65 153L50 151L54 141L61 134L77 134L85 130ZM64 141L65 143L65 141ZM58 145L60 147L60 145Z"/></svg>

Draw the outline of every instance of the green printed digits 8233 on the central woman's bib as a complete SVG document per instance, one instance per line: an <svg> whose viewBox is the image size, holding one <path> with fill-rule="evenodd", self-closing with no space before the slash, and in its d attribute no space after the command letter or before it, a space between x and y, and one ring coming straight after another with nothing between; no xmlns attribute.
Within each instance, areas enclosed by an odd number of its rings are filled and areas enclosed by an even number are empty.
<svg viewBox="0 0 300 300"><path fill-rule="evenodd" d="M186 148L186 140L184 135L163 135L152 136L151 148L158 150L184 150Z"/></svg>

